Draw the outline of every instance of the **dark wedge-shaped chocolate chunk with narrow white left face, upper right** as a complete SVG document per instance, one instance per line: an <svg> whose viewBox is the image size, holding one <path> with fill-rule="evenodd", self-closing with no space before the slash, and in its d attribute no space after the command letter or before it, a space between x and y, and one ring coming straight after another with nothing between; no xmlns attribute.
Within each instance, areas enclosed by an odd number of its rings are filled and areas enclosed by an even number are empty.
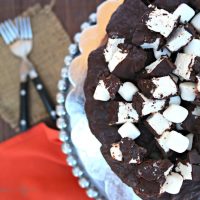
<svg viewBox="0 0 200 200"><path fill-rule="evenodd" d="M167 76L175 68L176 66L170 61L170 59L164 57L145 67L145 70L143 70L141 76L144 78Z"/></svg>

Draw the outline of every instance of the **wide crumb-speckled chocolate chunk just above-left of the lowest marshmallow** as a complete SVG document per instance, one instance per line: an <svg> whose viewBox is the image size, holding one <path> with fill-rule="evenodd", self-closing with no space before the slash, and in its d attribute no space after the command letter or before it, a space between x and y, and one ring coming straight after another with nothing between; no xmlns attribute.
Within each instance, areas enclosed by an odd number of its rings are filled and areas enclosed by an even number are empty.
<svg viewBox="0 0 200 200"><path fill-rule="evenodd" d="M171 167L173 164L169 160L148 160L138 166L137 176L147 181L158 181Z"/></svg>

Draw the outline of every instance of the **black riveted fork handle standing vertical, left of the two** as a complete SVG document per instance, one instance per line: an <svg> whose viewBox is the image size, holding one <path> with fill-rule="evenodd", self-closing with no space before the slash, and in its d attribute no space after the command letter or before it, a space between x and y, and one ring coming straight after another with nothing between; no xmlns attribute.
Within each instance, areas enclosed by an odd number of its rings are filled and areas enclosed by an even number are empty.
<svg viewBox="0 0 200 200"><path fill-rule="evenodd" d="M28 112L28 81L20 82L20 131L26 131L29 128Z"/></svg>

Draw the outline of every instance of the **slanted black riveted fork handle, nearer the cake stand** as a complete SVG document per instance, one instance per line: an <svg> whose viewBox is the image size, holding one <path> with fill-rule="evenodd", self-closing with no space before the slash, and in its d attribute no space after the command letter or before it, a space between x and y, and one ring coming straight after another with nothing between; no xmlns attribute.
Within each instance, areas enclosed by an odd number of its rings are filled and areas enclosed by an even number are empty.
<svg viewBox="0 0 200 200"><path fill-rule="evenodd" d="M39 76L32 79L36 90L38 91L42 102L53 121L56 120L55 106Z"/></svg>

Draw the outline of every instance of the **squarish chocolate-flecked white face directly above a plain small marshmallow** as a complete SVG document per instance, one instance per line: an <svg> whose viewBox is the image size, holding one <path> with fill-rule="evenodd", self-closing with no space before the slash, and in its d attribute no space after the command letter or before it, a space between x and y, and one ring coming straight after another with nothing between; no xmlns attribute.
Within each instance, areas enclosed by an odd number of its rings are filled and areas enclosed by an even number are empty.
<svg viewBox="0 0 200 200"><path fill-rule="evenodd" d="M119 102L118 121L116 124L123 124L126 122L138 122L139 115L133 108L132 103Z"/></svg>

